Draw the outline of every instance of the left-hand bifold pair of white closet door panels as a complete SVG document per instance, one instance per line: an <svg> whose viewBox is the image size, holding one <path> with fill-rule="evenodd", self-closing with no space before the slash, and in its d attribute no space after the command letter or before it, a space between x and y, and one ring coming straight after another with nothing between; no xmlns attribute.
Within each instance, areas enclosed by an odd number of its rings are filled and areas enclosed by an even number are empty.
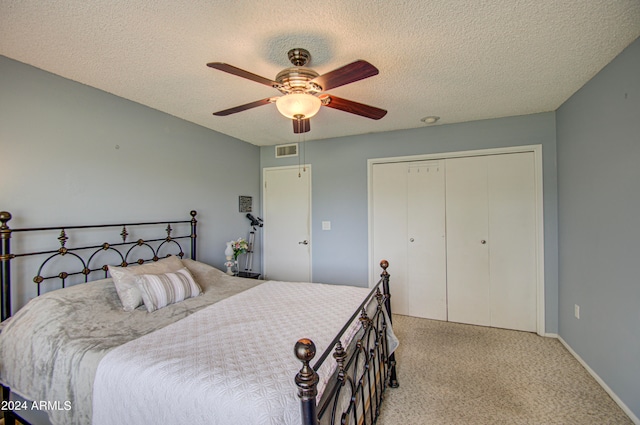
<svg viewBox="0 0 640 425"><path fill-rule="evenodd" d="M373 270L389 261L392 311L447 320L442 162L375 164L372 177Z"/></svg>

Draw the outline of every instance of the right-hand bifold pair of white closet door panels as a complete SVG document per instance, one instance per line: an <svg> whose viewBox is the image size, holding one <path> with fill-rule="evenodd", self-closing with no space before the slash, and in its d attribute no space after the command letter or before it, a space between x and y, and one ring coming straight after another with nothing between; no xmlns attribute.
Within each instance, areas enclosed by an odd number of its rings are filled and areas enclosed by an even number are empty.
<svg viewBox="0 0 640 425"><path fill-rule="evenodd" d="M535 332L532 152L448 159L449 320Z"/></svg>

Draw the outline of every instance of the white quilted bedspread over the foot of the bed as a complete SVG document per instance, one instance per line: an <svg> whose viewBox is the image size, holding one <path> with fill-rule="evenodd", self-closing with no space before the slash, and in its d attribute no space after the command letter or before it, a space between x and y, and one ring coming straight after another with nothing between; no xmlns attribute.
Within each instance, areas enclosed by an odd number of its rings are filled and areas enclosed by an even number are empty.
<svg viewBox="0 0 640 425"><path fill-rule="evenodd" d="M317 360L368 292L269 281L128 342L98 366L93 425L299 425L296 341Z"/></svg>

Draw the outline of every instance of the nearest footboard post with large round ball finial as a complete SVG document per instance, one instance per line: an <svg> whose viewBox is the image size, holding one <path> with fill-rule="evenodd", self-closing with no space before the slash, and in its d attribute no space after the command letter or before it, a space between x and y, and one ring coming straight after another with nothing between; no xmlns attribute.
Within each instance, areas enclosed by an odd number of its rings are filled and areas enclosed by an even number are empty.
<svg viewBox="0 0 640 425"><path fill-rule="evenodd" d="M298 397L302 413L302 425L317 425L316 396L318 395L318 374L309 365L316 355L316 345L310 339L303 338L296 342L294 352L302 362L302 369L296 375Z"/></svg>

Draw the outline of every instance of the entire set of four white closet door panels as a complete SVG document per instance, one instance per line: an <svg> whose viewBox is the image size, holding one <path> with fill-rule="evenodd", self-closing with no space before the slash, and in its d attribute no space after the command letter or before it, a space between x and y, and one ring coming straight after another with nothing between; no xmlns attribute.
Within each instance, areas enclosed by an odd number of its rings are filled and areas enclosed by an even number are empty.
<svg viewBox="0 0 640 425"><path fill-rule="evenodd" d="M373 165L373 270L395 313L535 332L533 152Z"/></svg>

